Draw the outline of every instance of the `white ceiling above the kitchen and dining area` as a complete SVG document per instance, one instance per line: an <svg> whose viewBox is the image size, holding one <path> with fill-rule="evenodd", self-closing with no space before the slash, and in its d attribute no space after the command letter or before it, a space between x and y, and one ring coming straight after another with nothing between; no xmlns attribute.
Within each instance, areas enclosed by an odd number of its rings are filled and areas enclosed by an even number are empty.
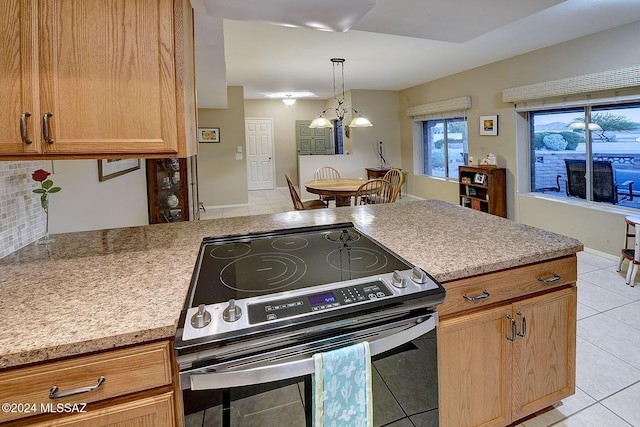
<svg viewBox="0 0 640 427"><path fill-rule="evenodd" d="M334 57L346 59L346 90L401 90L640 21L638 0L191 3L205 108L226 108L227 85L246 99L331 98Z"/></svg>

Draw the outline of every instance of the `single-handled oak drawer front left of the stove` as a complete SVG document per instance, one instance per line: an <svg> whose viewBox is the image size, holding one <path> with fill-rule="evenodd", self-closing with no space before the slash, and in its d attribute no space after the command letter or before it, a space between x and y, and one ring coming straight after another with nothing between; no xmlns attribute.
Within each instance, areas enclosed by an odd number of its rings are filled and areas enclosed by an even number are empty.
<svg viewBox="0 0 640 427"><path fill-rule="evenodd" d="M171 383L170 343L145 344L59 362L19 368L0 373L0 402L16 404L16 411L0 412L0 422L36 415L52 403L88 403ZM49 397L53 386L58 394L99 387L66 397Z"/></svg>

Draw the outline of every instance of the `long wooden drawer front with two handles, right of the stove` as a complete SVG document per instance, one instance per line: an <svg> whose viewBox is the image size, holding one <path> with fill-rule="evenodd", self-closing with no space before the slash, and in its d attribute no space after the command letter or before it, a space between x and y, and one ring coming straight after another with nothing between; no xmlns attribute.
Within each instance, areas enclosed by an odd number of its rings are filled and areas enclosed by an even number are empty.
<svg viewBox="0 0 640 427"><path fill-rule="evenodd" d="M438 306L438 313L442 317L575 283L577 269L577 257L573 255L445 282L442 285L447 290L447 297Z"/></svg>

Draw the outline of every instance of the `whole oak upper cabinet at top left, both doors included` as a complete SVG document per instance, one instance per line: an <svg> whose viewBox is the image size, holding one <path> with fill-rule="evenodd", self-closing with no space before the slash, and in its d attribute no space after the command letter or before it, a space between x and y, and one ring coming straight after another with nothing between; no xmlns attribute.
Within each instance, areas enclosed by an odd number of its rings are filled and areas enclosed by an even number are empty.
<svg viewBox="0 0 640 427"><path fill-rule="evenodd" d="M0 122L4 160L35 158L30 153L50 158L195 154L188 0L9 3L9 10L0 12L2 38L15 40L0 48L12 58L2 65L6 84L0 89L6 98L0 108L8 109ZM24 111L32 113L31 144L19 132Z"/></svg>

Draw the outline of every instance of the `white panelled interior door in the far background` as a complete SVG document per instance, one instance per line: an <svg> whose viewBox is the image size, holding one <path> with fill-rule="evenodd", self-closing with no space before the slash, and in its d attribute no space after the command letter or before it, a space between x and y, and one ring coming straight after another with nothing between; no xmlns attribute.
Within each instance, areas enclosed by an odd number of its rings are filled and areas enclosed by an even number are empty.
<svg viewBox="0 0 640 427"><path fill-rule="evenodd" d="M272 190L274 182L273 120L245 119L247 187Z"/></svg>

